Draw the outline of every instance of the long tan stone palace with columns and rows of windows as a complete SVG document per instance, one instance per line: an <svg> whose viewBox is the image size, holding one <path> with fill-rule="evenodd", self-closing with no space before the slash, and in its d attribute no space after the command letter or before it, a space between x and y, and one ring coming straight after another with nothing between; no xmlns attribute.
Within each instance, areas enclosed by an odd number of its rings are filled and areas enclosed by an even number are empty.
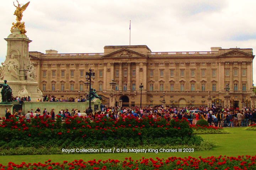
<svg viewBox="0 0 256 170"><path fill-rule="evenodd" d="M92 87L104 103L139 106L224 105L229 86L230 107L250 106L252 49L212 47L211 51L151 52L146 45L105 46L104 53L29 52L37 82L44 95L84 97L85 73L96 78ZM114 79L115 91L110 86ZM111 95L110 95L111 94Z"/></svg>

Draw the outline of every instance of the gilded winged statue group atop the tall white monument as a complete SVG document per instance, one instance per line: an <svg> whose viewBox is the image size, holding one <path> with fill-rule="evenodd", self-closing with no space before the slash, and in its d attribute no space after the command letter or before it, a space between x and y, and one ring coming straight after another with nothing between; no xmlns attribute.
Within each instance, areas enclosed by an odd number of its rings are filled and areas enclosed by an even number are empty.
<svg viewBox="0 0 256 170"><path fill-rule="evenodd" d="M18 0L17 0L17 2L18 2ZM14 4L14 6L16 7L16 10L15 10L15 12L14 12L14 15L16 15L17 17L16 17L16 23L12 23L12 27L11 27L11 33L12 33L12 30L14 29L14 28L18 28L19 30L20 30L20 32L21 32L21 34L26 34L26 30L25 30L25 22L21 22L21 19L22 19L22 17L23 17L23 15L22 15L22 13L23 13L23 11L25 11L26 10L26 8L27 8L27 6L28 6L28 4L29 4L30 2L27 2L27 4L25 4L25 5L23 5L22 7L21 7L21 5L20 5L20 3L18 2L18 6L16 6L15 4Z"/></svg>

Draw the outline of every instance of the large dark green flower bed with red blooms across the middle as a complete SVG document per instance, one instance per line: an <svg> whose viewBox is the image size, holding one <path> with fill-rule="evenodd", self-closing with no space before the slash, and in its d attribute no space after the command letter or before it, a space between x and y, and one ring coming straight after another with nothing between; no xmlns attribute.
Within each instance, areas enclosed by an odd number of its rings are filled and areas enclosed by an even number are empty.
<svg viewBox="0 0 256 170"><path fill-rule="evenodd" d="M123 117L118 120L98 117L70 117L61 120L49 118L4 120L0 128L0 146L6 148L53 146L58 147L136 147L144 145L200 145L202 138L193 136L186 119L171 120L135 119Z"/></svg>

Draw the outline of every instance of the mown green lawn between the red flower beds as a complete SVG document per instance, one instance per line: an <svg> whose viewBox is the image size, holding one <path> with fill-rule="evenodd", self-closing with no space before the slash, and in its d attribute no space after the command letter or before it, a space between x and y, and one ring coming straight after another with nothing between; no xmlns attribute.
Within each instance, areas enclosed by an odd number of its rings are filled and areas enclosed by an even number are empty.
<svg viewBox="0 0 256 170"><path fill-rule="evenodd" d="M197 151L194 153L102 153L102 154L65 154L65 155L15 155L15 156L0 156L0 163L6 165L8 162L14 163L34 163L51 159L52 162L63 162L63 160L73 161L75 159L124 159L132 157L133 159L146 158L168 158L176 157L208 157L208 156L238 156L238 155L255 155L256 154L256 131L244 130L244 128L225 128L230 134L212 134L200 135L203 138L210 139L216 142L219 147L213 148L211 151ZM211 144L209 143L209 147Z"/></svg>

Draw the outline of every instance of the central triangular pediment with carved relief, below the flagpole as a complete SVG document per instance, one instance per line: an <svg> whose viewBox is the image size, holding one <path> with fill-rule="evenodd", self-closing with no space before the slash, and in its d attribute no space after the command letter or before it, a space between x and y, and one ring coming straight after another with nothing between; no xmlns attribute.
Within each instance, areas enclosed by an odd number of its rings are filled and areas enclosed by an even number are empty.
<svg viewBox="0 0 256 170"><path fill-rule="evenodd" d="M120 49L105 56L102 58L131 58L131 57L148 57L141 53L129 50L129 49Z"/></svg>

